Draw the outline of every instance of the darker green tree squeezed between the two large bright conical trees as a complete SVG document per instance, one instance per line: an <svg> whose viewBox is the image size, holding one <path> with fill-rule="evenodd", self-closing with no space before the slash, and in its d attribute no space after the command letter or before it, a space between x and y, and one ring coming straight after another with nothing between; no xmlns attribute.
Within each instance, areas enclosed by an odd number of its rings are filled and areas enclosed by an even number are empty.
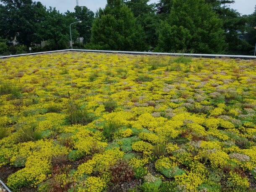
<svg viewBox="0 0 256 192"><path fill-rule="evenodd" d="M132 10L137 23L143 27L147 44L155 47L158 39L157 29L159 28L155 4L149 4L149 0L125 0L125 4Z"/></svg>

